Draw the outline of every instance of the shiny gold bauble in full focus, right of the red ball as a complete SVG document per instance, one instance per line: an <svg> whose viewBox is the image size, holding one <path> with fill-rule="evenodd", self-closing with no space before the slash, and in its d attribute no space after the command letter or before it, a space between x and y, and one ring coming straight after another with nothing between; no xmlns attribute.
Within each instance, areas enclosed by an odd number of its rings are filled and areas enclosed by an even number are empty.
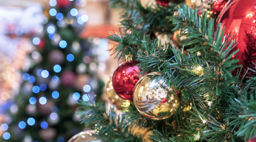
<svg viewBox="0 0 256 142"><path fill-rule="evenodd" d="M157 81L148 73L140 78L133 92L133 102L138 111L152 120L162 120L173 115L181 102L180 90L169 87L164 80Z"/></svg>

